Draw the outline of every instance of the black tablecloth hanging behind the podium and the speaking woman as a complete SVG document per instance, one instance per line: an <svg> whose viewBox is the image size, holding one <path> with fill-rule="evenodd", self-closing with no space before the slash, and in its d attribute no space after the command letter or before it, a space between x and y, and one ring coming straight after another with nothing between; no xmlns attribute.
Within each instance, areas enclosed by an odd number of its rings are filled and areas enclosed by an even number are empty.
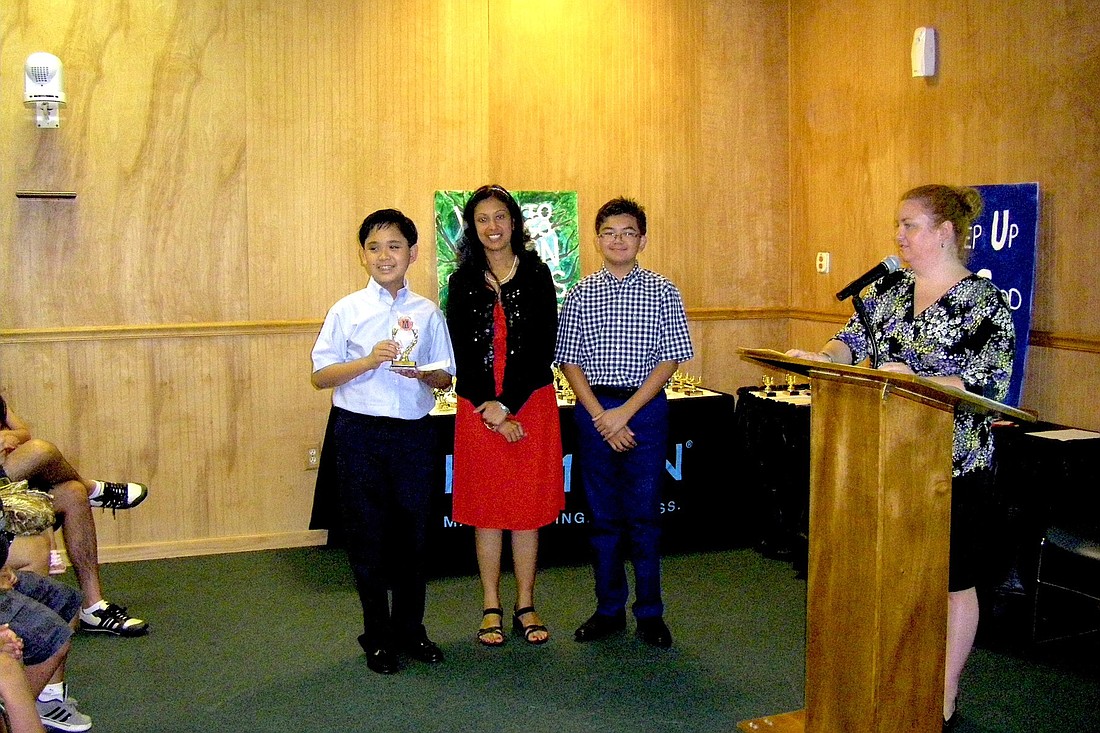
<svg viewBox="0 0 1100 733"><path fill-rule="evenodd" d="M785 395L779 390L778 396ZM736 462L755 518L752 541L765 555L804 569L810 507L810 405L768 398L762 387L737 390ZM1100 439L1052 440L1034 433L1053 423L994 425L996 481L986 513L988 582L997 604L1033 590L1040 543L1049 526L1085 536L1100 532L1094 456Z"/></svg>

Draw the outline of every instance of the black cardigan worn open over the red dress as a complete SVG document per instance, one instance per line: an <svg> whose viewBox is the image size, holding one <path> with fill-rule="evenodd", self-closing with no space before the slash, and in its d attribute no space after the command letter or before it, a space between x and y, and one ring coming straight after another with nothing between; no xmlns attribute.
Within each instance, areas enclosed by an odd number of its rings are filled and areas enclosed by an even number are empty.
<svg viewBox="0 0 1100 733"><path fill-rule="evenodd" d="M466 262L449 281L447 327L454 347L454 391L474 404L497 400L513 414L531 393L553 382L558 296L550 269L534 252L519 258L515 276L501 287L508 326L504 389L493 379L493 308L496 294L484 271Z"/></svg>

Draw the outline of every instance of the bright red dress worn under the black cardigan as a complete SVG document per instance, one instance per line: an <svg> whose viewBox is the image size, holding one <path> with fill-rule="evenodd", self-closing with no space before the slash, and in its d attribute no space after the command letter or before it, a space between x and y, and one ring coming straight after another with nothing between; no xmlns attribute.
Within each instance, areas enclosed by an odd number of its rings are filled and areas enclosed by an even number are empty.
<svg viewBox="0 0 1100 733"><path fill-rule="evenodd" d="M493 309L493 375L498 393L504 382L506 338L504 308L497 300ZM459 397L454 521L485 529L538 529L554 522L565 508L565 482L553 384L536 390L515 415L526 434L516 442L486 430L474 407Z"/></svg>

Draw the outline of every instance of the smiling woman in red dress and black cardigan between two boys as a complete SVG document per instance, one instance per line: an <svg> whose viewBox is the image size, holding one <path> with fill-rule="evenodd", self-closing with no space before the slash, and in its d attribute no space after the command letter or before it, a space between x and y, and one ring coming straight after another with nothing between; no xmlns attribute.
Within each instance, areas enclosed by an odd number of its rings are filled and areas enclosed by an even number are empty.
<svg viewBox="0 0 1100 733"><path fill-rule="evenodd" d="M462 212L459 267L447 325L454 346L453 518L474 527L484 603L477 641L504 644L501 555L512 535L513 627L529 644L550 637L535 610L539 527L565 507L553 387L558 300L550 269L530 249L519 205L482 186Z"/></svg>

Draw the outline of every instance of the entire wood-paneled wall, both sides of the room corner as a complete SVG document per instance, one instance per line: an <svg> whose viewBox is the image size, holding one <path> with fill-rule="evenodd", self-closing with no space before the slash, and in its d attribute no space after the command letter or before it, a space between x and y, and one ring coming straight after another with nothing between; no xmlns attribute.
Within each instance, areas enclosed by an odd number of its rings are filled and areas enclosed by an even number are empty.
<svg viewBox="0 0 1100 733"><path fill-rule="evenodd" d="M844 319L832 294L892 250L901 190L1037 180L1025 403L1100 428L1079 397L1100 375L1098 36L1088 0L11 0L0 390L86 474L151 485L99 519L105 560L314 543L309 349L363 283L370 210L417 221L410 280L435 295L437 189L576 190L585 272L596 208L637 197L688 369L732 392L759 379L736 347ZM22 106L35 51L65 64L59 130Z"/></svg>

